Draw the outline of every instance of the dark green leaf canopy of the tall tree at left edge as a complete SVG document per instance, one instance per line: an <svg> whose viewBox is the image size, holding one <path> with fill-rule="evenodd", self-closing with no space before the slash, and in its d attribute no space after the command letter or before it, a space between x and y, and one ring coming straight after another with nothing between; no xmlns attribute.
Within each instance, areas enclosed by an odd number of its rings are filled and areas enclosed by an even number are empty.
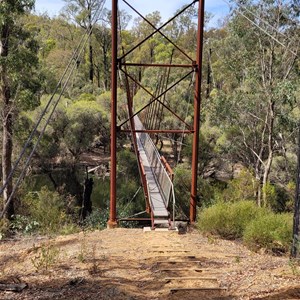
<svg viewBox="0 0 300 300"><path fill-rule="evenodd" d="M29 7L24 4L26 1L12 1L18 2L23 8ZM1 4L1 7L3 4ZM12 24L0 24L0 29L3 26L10 26L8 43L8 54L0 60L1 70L5 69L9 76L9 85L11 97L14 99L14 104L17 111L33 110L39 102L39 92L43 78L39 69L38 50L39 44L32 32L26 30L26 18L21 18L19 15L14 16L13 9L7 13L6 17L15 18ZM25 8L26 10L26 8ZM19 13L24 13L20 11ZM0 12L0 19L2 18ZM3 68L3 69L2 69Z"/></svg>

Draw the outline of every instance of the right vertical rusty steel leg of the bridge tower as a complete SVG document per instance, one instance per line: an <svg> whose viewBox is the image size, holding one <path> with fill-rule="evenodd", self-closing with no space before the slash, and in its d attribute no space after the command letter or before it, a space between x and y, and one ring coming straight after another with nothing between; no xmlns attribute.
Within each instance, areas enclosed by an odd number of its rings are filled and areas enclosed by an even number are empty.
<svg viewBox="0 0 300 300"><path fill-rule="evenodd" d="M198 37L196 57L196 82L194 96L194 136L192 152L192 183L190 198L190 222L194 223L197 214L197 181L198 181L198 156L200 134L200 104L201 104L201 80L202 80L202 54L203 54L203 28L204 28L204 0L199 0L198 7Z"/></svg>

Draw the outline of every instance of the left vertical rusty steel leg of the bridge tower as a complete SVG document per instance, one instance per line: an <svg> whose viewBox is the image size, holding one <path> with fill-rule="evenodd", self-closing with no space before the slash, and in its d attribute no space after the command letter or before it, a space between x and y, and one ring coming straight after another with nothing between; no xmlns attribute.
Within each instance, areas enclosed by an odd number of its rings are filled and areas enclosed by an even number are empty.
<svg viewBox="0 0 300 300"><path fill-rule="evenodd" d="M108 228L117 226L117 64L118 0L112 0L112 65L111 65L111 146L110 146L110 211Z"/></svg>

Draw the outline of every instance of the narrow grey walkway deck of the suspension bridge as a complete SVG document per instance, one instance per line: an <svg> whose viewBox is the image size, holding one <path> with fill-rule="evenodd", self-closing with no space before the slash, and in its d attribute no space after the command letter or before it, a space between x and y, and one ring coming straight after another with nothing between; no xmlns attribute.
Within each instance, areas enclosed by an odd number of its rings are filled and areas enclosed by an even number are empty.
<svg viewBox="0 0 300 300"><path fill-rule="evenodd" d="M136 129L141 130L143 127L139 118L135 117L134 121L135 121ZM150 197L149 201L153 211L153 215L154 217L168 217L169 212L165 206L163 196L160 193L158 183L155 179L155 175L153 173L152 167L147 158L144 146L141 142L141 133L136 133L136 137L137 137L137 146L140 153L141 163L144 166L146 179L148 183L149 197Z"/></svg>

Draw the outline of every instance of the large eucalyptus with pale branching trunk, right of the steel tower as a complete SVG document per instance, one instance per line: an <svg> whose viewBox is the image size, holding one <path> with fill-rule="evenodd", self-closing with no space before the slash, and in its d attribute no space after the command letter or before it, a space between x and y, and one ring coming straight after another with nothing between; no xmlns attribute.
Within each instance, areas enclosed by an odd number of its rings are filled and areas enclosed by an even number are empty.
<svg viewBox="0 0 300 300"><path fill-rule="evenodd" d="M218 54L214 105L225 130L223 150L254 170L261 183L258 204L264 206L299 83L299 23L291 2L238 3L226 37L213 44Z"/></svg>

